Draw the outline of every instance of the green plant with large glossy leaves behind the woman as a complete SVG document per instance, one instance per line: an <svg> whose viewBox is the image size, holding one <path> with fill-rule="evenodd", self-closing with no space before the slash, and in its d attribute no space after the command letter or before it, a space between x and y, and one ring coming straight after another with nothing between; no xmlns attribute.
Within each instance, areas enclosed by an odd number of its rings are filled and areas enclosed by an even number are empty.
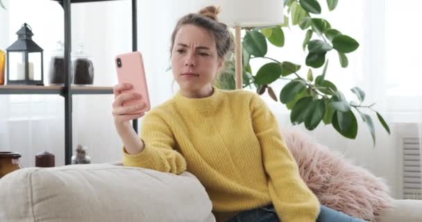
<svg viewBox="0 0 422 222"><path fill-rule="evenodd" d="M283 0L280 0L283 1ZM390 133L389 126L373 105L364 104L365 92L360 87L351 91L357 96L357 101L348 101L337 86L326 78L328 69L327 53L337 53L341 67L348 66L347 54L359 47L359 43L338 29L332 28L326 19L314 18L321 14L321 4L317 0L284 0L285 24L283 26L243 28L243 87L254 86L258 94L267 92L274 101L285 104L291 110L290 120L294 124L305 124L307 130L314 130L321 123L332 125L338 133L349 139L357 135L356 114L362 117L369 128L375 146L375 126L372 117L367 112L375 112L381 125ZM338 0L326 0L330 11L335 10ZM287 15L286 15L287 14ZM290 19L290 21L289 21ZM306 68L294 62L278 61L269 58L267 44L277 47L285 45L283 28L299 26L304 32L303 48L307 51ZM253 72L250 61L255 58L269 60L258 71ZM322 70L317 70L317 69ZM317 71L316 71L317 70ZM320 73L316 77L315 74ZM271 83L278 79L288 83L276 96ZM219 87L235 89L234 60L226 65L219 79Z"/></svg>

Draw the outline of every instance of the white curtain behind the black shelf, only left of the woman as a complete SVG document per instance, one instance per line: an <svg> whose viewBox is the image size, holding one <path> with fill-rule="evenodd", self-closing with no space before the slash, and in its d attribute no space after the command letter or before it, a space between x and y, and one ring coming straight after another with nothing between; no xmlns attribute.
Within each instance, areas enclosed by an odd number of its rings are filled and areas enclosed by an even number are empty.
<svg viewBox="0 0 422 222"><path fill-rule="evenodd" d="M50 0L4 1L0 9L0 49L15 42L24 24L33 28L33 40L44 49L44 78L48 85L49 56L63 41L63 11ZM151 103L169 99L178 86L169 67L169 40L177 18L192 1L138 1L138 49L144 55ZM165 7L163 7L165 6ZM114 57L132 51L131 1L74 3L71 5L72 49L78 44L92 56L94 85L117 83ZM48 13L47 13L48 12ZM88 147L92 162L121 160L121 140L111 115L112 95L76 95L73 144ZM49 151L56 165L64 164L64 99L58 95L0 95L0 151L22 153L24 167L35 165L35 155ZM142 119L140 119L142 122Z"/></svg>

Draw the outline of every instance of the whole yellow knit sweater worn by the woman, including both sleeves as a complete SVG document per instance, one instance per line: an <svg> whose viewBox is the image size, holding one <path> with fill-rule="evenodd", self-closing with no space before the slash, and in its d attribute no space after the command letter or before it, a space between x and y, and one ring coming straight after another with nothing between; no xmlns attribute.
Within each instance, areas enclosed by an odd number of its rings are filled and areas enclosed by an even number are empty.
<svg viewBox="0 0 422 222"><path fill-rule="evenodd" d="M193 173L218 214L273 203L283 222L314 222L319 202L298 173L273 113L244 90L215 89L189 99L180 92L144 117L144 151L124 165Z"/></svg>

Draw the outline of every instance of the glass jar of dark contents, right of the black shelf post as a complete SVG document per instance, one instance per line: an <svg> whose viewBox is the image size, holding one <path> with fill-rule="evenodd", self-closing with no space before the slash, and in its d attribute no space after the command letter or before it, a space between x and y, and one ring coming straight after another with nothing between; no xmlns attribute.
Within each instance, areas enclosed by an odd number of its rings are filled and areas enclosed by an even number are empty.
<svg viewBox="0 0 422 222"><path fill-rule="evenodd" d="M94 83L94 65L90 56L78 45L78 51L72 53L72 66L75 85L92 85Z"/></svg>

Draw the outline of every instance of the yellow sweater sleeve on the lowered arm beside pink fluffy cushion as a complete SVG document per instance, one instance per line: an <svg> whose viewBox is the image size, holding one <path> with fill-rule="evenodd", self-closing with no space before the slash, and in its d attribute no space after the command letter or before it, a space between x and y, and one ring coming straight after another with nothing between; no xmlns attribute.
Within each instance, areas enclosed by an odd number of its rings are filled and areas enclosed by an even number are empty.
<svg viewBox="0 0 422 222"><path fill-rule="evenodd" d="M314 222L319 201L302 180L296 161L287 148L278 121L258 95L251 101L253 130L262 149L262 162L277 214L283 222Z"/></svg>

